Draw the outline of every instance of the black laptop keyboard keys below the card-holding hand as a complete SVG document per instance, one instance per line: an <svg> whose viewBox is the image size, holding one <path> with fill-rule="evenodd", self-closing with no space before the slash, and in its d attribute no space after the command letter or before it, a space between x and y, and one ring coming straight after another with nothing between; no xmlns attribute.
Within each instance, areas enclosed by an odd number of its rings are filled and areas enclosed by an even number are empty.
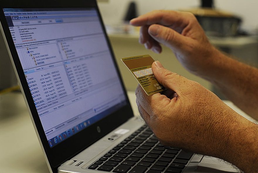
<svg viewBox="0 0 258 173"><path fill-rule="evenodd" d="M151 129L143 125L88 169L116 173L181 173L192 155L164 146Z"/></svg>

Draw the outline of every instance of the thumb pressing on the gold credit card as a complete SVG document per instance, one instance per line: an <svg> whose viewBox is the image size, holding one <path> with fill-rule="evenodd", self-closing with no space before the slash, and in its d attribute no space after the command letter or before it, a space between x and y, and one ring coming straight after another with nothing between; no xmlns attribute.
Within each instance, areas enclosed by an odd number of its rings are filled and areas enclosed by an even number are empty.
<svg viewBox="0 0 258 173"><path fill-rule="evenodd" d="M175 91L178 95L187 80L185 77L165 69L159 61L152 63L152 72L161 85Z"/></svg>

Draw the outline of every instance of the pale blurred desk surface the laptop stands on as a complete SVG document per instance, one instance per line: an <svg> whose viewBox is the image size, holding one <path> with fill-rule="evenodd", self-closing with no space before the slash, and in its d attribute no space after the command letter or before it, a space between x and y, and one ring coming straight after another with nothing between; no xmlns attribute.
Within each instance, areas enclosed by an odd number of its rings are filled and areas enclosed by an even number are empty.
<svg viewBox="0 0 258 173"><path fill-rule="evenodd" d="M134 92L128 96L134 115L139 115ZM248 117L231 102L225 103ZM0 95L0 139L1 172L49 172L21 93Z"/></svg>

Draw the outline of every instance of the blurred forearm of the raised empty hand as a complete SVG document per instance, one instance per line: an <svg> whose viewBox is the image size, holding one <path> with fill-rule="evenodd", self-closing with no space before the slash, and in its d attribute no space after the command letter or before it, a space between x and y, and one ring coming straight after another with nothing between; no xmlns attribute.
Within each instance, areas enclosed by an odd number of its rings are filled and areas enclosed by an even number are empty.
<svg viewBox="0 0 258 173"><path fill-rule="evenodd" d="M208 79L235 105L258 120L258 69L240 63L218 50L203 68Z"/></svg>

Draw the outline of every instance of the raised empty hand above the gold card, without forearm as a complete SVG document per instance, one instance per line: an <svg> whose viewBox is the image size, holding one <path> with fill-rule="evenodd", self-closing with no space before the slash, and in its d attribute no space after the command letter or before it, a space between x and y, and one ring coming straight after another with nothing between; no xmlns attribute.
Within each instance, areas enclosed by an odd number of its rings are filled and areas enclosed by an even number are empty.
<svg viewBox="0 0 258 173"><path fill-rule="evenodd" d="M147 49L160 53L160 43L164 44L187 70L202 77L219 53L192 13L152 11L132 19L130 24L141 26L139 42Z"/></svg>

